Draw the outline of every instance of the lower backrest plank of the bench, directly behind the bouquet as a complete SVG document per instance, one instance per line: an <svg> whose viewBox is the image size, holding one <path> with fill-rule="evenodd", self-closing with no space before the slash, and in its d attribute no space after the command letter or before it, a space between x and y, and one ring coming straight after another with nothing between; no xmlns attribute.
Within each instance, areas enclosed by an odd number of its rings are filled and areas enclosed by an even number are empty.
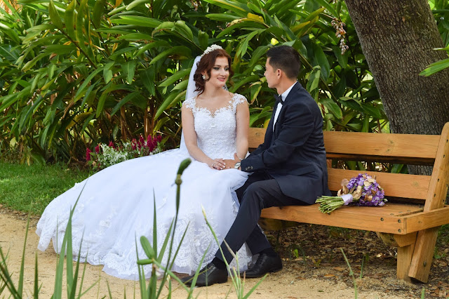
<svg viewBox="0 0 449 299"><path fill-rule="evenodd" d="M340 168L328 168L328 186L331 191L342 188L342 179L350 180L358 173L368 173L376 177L380 187L384 188L385 197L403 197L408 199L423 199L429 189L429 175L409 175L403 173L382 173L375 171L349 171ZM424 201L423 201L424 202Z"/></svg>

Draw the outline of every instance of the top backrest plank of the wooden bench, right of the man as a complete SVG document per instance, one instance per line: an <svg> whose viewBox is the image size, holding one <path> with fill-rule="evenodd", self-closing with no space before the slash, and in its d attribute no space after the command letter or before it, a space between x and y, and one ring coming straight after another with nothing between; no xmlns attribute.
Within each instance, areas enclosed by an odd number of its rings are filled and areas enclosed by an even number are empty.
<svg viewBox="0 0 449 299"><path fill-rule="evenodd" d="M324 131L329 154L361 154L377 157L435 159L439 135L373 134ZM363 142L361 142L363 140Z"/></svg>

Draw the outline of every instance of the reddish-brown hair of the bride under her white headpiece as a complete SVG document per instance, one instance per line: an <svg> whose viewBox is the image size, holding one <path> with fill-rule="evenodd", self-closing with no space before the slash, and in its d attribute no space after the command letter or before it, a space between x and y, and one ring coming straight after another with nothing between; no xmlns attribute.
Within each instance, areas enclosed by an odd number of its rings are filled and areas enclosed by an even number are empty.
<svg viewBox="0 0 449 299"><path fill-rule="evenodd" d="M198 62L198 67L196 68L196 72L194 74L194 81L196 89L195 91L198 91L198 95L201 95L201 93L204 92L204 86L206 85L206 81L210 78L210 69L213 68L215 65L215 60L217 57L225 57L227 58L227 63L229 64L229 78L231 78L234 75L234 72L232 71L231 65L232 65L232 58L231 56L223 49L216 49L214 51L210 51L201 57L201 60ZM203 72L206 71L207 79L203 79ZM230 79L229 79L229 82ZM231 82L232 83L232 82Z"/></svg>

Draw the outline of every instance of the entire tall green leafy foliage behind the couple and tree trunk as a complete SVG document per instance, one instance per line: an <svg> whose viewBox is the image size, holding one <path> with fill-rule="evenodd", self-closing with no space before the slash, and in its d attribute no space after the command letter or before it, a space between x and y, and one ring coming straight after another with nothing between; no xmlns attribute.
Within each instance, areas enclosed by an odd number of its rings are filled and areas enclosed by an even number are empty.
<svg viewBox="0 0 449 299"><path fill-rule="evenodd" d="M447 46L447 1L429 3ZM230 91L248 98L251 126L266 126L274 104L265 53L287 44L326 130L389 131L342 0L20 4L0 10L0 151L15 146L22 162L82 160L92 143L139 134L161 133L175 147L190 68L210 44L234 57Z"/></svg>

